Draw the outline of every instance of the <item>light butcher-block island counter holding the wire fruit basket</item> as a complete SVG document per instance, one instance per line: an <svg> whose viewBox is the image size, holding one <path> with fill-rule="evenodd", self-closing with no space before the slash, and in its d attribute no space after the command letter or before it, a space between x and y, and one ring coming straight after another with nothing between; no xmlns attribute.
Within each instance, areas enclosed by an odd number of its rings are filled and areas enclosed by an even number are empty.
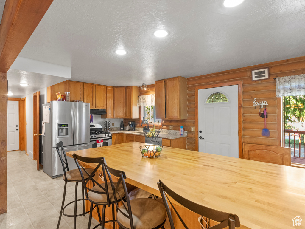
<svg viewBox="0 0 305 229"><path fill-rule="evenodd" d="M67 155L104 157L107 165L126 173L127 183L157 196L160 179L192 202L236 214L240 228L296 228L296 216L303 219L299 228L305 227L305 169L171 147L163 147L159 158L142 158L141 145L130 142ZM197 215L180 210L190 228L201 228Z"/></svg>

